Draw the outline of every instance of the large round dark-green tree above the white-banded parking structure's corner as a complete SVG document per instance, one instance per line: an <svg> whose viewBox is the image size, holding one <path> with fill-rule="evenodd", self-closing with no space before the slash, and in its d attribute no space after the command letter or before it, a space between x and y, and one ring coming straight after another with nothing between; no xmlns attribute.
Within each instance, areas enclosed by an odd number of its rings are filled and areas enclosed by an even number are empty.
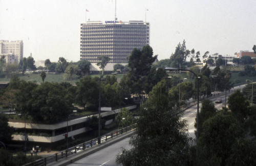
<svg viewBox="0 0 256 166"><path fill-rule="evenodd" d="M32 91L30 115L34 122L56 123L67 120L72 100L68 90L58 83L45 82Z"/></svg>

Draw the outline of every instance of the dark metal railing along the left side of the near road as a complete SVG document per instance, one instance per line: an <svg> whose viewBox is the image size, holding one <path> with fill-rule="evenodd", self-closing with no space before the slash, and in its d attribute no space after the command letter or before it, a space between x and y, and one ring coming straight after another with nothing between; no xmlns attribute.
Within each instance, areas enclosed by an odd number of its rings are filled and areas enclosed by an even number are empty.
<svg viewBox="0 0 256 166"><path fill-rule="evenodd" d="M111 140L119 135L122 135L128 131L132 131L136 128L136 124L134 125L131 125L131 126L127 126L125 128L122 128L122 129L119 129L119 130L116 130L114 132L111 132L111 133L108 133L108 134L105 134L105 135L102 135L100 137L101 139L101 143L105 142L105 141L108 141L108 140ZM38 160L35 160L33 162L30 162L30 163L27 163L23 166L30 166L30 165L33 165L33 166L46 166L47 164L50 164L50 163L53 163L55 161L60 161L62 159L65 159L69 156L74 156L80 152L83 152L83 151L87 151L89 150L89 148L93 147L93 146L96 146L97 145L97 139L98 138L94 138L94 139L91 139L89 141L86 141L82 144L78 144L74 147L71 147L69 149L66 149L66 150L63 150L63 151L60 151L60 152L57 152L53 155L49 155L47 157L44 157L44 158L41 158L41 159L38 159Z"/></svg>

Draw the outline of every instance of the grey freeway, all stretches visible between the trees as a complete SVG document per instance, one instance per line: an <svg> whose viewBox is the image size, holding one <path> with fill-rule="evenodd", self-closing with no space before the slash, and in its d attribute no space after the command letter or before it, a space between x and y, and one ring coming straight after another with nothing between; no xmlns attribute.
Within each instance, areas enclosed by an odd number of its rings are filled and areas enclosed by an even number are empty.
<svg viewBox="0 0 256 166"><path fill-rule="evenodd" d="M238 87L234 87L230 90L230 93L227 92L227 98L228 96L237 89L241 89L244 86L238 86ZM216 99L222 99L223 103L215 103ZM210 99L213 103L215 103L215 107L219 110L222 107L225 106L225 93L221 93L220 96L216 96L214 98ZM199 108L201 108L201 103L199 105ZM192 138L196 138L195 136L195 118L197 115L197 104L187 108L184 111L183 114L183 119L187 121L187 125L188 125L188 135ZM100 151L97 151L91 155L88 155L80 160L77 160L71 164L69 164L70 166L77 166L77 165L86 165L86 166L95 166L95 165L99 165L99 166L111 166L111 165L117 165L115 163L115 159L116 159L116 155L118 153L120 153L120 148L123 147L125 149L131 149L131 146L129 145L129 140L130 137L125 138L109 147L106 147Z"/></svg>

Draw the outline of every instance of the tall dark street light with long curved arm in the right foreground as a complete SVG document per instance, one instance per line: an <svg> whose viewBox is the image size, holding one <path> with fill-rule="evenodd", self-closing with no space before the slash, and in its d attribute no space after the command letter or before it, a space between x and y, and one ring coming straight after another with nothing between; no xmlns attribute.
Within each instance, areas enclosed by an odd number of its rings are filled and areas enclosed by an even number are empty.
<svg viewBox="0 0 256 166"><path fill-rule="evenodd" d="M193 73L197 78L197 143L198 143L198 133L199 133L199 78L193 71L191 71L189 69L165 67L165 70L169 70L169 71L174 71L174 70L187 71L187 72ZM198 148L196 149L196 154L197 154L197 158L198 158Z"/></svg>

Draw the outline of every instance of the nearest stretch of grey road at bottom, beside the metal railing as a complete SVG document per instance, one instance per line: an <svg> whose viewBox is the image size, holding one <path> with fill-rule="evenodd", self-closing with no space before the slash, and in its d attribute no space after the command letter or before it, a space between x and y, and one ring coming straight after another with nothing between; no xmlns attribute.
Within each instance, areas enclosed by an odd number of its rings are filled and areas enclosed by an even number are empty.
<svg viewBox="0 0 256 166"><path fill-rule="evenodd" d="M116 155L118 153L120 153L120 151L121 151L120 148L123 147L125 149L131 149L131 146L129 145L129 140L130 140L130 137L127 137L109 147L106 147L98 152L95 152L89 156L86 156L80 160L77 160L69 165L70 166L78 166L78 165L113 166L113 165L117 165L115 160L116 160Z"/></svg>

